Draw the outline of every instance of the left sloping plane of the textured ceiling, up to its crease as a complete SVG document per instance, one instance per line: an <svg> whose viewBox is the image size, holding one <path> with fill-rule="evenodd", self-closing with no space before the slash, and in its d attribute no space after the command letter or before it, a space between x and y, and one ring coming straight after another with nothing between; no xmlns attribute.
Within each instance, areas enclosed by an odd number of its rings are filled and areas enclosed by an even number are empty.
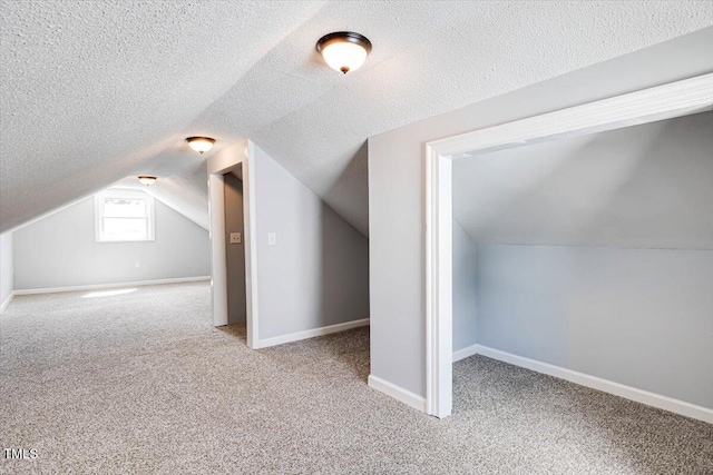
<svg viewBox="0 0 713 475"><path fill-rule="evenodd" d="M0 230L127 175L191 181L176 135L321 6L3 1Z"/></svg>

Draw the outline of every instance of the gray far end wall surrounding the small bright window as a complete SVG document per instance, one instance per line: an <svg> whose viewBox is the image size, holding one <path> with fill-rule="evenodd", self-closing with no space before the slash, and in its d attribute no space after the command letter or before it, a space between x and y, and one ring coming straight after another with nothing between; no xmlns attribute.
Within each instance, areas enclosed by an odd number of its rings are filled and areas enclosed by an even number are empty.
<svg viewBox="0 0 713 475"><path fill-rule="evenodd" d="M155 202L153 243L96 243L94 197L16 230L16 290L209 276L208 232Z"/></svg>

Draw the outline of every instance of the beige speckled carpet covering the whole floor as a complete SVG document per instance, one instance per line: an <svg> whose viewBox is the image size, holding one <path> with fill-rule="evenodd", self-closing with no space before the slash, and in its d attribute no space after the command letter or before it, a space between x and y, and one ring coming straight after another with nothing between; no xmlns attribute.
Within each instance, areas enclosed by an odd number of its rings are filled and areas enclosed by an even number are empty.
<svg viewBox="0 0 713 475"><path fill-rule="evenodd" d="M252 352L205 283L17 297L0 317L0 473L712 474L713 426L485 357L455 414L367 386L369 330Z"/></svg>

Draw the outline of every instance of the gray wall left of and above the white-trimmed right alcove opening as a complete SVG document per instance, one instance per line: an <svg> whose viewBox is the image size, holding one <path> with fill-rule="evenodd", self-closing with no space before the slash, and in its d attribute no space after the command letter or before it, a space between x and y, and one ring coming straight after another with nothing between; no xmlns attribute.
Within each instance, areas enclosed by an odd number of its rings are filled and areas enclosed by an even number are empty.
<svg viewBox="0 0 713 475"><path fill-rule="evenodd" d="M371 373L426 394L427 141L711 72L711 42L701 30L370 138Z"/></svg>

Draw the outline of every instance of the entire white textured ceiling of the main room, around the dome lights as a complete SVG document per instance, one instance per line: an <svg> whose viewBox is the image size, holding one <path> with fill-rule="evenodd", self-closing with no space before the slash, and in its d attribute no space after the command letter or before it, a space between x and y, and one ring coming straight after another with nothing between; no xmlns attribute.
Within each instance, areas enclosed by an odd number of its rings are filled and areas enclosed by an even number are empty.
<svg viewBox="0 0 713 475"><path fill-rule="evenodd" d="M368 137L713 24L707 1L1 9L0 230L144 172L199 209L204 162L183 138L209 135L255 140L367 234ZM321 61L334 30L371 39L362 69Z"/></svg>

